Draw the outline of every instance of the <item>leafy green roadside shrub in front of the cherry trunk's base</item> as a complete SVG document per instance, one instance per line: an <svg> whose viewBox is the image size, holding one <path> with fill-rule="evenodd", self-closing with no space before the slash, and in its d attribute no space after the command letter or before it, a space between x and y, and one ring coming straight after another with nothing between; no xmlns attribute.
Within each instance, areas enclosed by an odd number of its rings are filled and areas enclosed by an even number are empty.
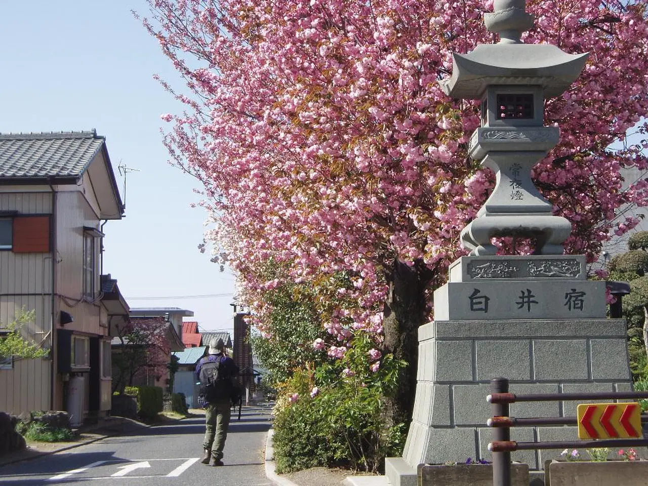
<svg viewBox="0 0 648 486"><path fill-rule="evenodd" d="M370 364L366 356L374 344L360 333L340 360L295 371L279 386L273 436L277 472L316 466L376 472L384 457L400 456L406 430L404 424L389 423L386 397L403 363L388 355Z"/></svg>

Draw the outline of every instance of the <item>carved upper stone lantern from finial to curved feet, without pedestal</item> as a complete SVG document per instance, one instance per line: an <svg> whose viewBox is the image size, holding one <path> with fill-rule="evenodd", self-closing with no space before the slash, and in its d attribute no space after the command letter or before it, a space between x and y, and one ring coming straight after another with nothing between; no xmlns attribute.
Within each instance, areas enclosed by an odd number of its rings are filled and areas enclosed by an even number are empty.
<svg viewBox="0 0 648 486"><path fill-rule="evenodd" d="M544 100L561 95L578 77L588 54L566 54L555 45L524 44L533 27L524 0L496 0L486 14L497 44L453 54L452 76L441 82L453 98L481 100L481 127L470 139L470 157L496 173L491 197L461 233L471 255L494 255L492 237L535 238L535 253L561 255L571 224L553 216L531 182L531 167L558 143L560 131L544 125Z"/></svg>

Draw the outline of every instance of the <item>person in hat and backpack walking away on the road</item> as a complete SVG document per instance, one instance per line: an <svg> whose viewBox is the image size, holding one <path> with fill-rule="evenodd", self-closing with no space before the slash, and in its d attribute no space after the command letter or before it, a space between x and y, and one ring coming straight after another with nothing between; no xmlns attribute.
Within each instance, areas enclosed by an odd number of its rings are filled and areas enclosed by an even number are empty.
<svg viewBox="0 0 648 486"><path fill-rule="evenodd" d="M237 389L234 381L237 374L238 367L225 353L225 343L220 338L209 346L209 356L202 358L196 365L196 376L200 381L198 400L205 408L203 464L224 465L223 449L229 428L231 397Z"/></svg>

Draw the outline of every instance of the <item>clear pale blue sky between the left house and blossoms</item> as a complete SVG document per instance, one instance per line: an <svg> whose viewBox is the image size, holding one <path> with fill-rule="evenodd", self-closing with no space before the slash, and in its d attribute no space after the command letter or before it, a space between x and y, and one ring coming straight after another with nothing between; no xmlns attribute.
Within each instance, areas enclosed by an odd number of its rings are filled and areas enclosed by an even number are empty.
<svg viewBox="0 0 648 486"><path fill-rule="evenodd" d="M153 79L181 83L133 18L145 0L5 1L0 15L0 132L91 130L106 137L126 218L104 230L104 273L131 307L193 310L205 329L232 327L235 279L201 254L206 213L196 179L168 165L161 113L182 106ZM137 299L227 294L193 299Z"/></svg>

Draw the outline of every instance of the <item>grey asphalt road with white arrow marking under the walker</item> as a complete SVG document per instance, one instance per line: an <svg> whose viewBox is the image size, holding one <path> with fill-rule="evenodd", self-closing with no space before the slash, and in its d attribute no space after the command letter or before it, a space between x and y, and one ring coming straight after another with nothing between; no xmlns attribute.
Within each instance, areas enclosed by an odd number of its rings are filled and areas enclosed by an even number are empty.
<svg viewBox="0 0 648 486"><path fill-rule="evenodd" d="M203 417L144 428L130 435L0 468L2 486L266 486L263 448L270 409L245 407L233 415L224 467L202 459Z"/></svg>

